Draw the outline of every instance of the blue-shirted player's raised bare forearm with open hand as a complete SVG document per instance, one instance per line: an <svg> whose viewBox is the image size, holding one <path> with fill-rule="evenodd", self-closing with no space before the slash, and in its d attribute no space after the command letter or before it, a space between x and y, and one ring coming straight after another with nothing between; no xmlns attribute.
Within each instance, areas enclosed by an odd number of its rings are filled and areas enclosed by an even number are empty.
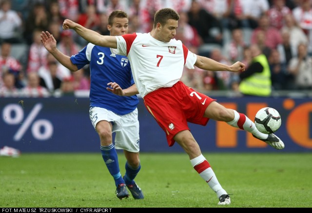
<svg viewBox="0 0 312 213"><path fill-rule="evenodd" d="M41 32L41 43L51 53L54 58L56 58L64 67L69 69L72 72L75 72L78 70L78 67L72 63L69 56L64 55L62 52L60 52L57 48L57 41L51 35L48 31Z"/></svg>

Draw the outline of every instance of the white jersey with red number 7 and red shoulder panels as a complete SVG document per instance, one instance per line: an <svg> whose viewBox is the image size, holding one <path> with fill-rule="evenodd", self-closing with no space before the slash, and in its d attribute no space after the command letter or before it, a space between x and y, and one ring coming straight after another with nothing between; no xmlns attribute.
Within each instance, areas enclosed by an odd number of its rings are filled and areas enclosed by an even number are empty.
<svg viewBox="0 0 312 213"><path fill-rule="evenodd" d="M183 67L194 69L197 56L180 40L163 42L150 33L117 36L119 55L127 56L141 97L163 87L172 87L182 77Z"/></svg>

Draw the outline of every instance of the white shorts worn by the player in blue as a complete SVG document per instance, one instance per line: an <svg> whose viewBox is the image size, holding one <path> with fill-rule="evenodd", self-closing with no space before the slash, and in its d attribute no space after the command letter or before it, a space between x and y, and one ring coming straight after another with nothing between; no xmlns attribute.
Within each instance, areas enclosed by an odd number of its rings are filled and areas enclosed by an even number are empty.
<svg viewBox="0 0 312 213"><path fill-rule="evenodd" d="M90 107L89 113L90 120L95 130L97 123L101 120L112 122L112 132L116 132L116 149L127 150L132 153L139 152L140 137L137 108L133 112L123 116L117 115L112 111L100 107Z"/></svg>

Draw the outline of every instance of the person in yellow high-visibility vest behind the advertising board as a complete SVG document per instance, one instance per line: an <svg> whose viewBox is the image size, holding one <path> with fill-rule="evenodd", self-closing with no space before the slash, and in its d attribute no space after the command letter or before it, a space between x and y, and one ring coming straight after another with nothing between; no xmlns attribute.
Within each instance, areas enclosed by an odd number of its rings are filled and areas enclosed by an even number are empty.
<svg viewBox="0 0 312 213"><path fill-rule="evenodd" d="M243 95L268 97L272 92L271 70L267 57L256 44L250 46L252 62L239 77L239 91Z"/></svg>

